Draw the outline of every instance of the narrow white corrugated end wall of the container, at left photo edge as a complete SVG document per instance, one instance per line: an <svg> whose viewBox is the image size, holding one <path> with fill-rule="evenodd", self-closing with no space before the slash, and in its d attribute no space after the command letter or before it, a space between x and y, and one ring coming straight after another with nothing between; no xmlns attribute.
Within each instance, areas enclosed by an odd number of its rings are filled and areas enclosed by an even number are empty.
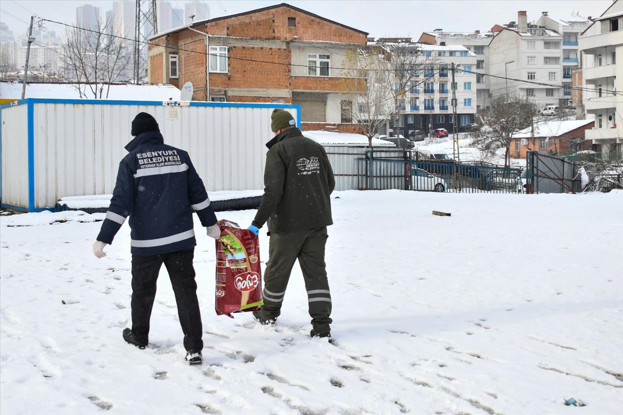
<svg viewBox="0 0 623 415"><path fill-rule="evenodd" d="M26 105L2 110L2 203L28 206Z"/></svg>

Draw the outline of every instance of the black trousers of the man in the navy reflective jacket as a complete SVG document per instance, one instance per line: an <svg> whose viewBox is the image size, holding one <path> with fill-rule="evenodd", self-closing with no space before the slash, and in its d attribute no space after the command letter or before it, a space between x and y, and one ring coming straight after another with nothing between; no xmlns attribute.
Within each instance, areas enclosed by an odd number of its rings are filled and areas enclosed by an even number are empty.
<svg viewBox="0 0 623 415"><path fill-rule="evenodd" d="M178 303L179 323L184 332L186 350L202 350L201 313L194 280L194 249L162 255L132 255L132 331L148 343L151 308L156 298L156 280L162 264L169 272L175 301Z"/></svg>

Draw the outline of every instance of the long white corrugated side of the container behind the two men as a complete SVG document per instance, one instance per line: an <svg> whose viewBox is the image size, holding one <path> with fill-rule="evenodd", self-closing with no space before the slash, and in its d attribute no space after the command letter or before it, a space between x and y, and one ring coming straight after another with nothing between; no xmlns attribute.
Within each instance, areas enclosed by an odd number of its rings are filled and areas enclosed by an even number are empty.
<svg viewBox="0 0 623 415"><path fill-rule="evenodd" d="M16 108L26 114L26 105ZM285 109L297 118L295 108ZM35 205L52 207L65 196L112 193L118 163L127 154L123 147L132 138L131 122L139 112L156 118L165 143L188 151L209 191L262 189L264 145L273 136L272 111L267 107L34 103ZM26 166L27 156L20 159Z"/></svg>

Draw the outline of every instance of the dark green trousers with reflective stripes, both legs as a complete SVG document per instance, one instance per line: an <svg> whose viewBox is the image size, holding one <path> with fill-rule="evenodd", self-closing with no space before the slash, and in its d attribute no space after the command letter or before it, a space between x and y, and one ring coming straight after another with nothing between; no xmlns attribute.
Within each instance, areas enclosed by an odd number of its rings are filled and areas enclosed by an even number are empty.
<svg viewBox="0 0 623 415"><path fill-rule="evenodd" d="M318 333L331 331L331 292L326 277L326 226L309 231L270 232L269 262L264 272L262 317L277 318L298 259L301 266L312 327Z"/></svg>

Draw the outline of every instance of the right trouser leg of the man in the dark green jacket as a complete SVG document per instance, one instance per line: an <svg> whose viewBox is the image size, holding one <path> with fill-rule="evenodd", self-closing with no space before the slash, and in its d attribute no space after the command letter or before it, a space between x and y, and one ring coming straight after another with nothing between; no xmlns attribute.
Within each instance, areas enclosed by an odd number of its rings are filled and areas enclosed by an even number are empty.
<svg viewBox="0 0 623 415"><path fill-rule="evenodd" d="M326 227L309 232L301 252L298 264L301 265L312 325L318 333L330 332L331 291L326 277L325 245Z"/></svg>

